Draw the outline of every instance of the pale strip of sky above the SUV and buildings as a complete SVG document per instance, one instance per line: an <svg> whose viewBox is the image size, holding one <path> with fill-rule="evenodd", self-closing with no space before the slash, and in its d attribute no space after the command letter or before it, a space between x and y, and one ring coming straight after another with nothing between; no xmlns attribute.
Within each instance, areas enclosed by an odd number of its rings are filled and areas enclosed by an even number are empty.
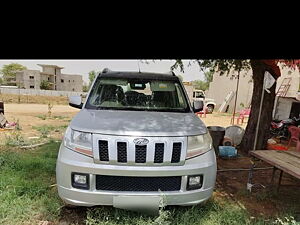
<svg viewBox="0 0 300 225"><path fill-rule="evenodd" d="M9 63L19 63L26 66L27 69L40 70L41 67L37 64L51 64L64 67L61 70L65 74L78 74L83 76L83 80L88 83L88 73L92 70L102 71L104 68L109 68L115 71L138 71L141 72L157 72L165 73L170 71L170 67L175 60L0 60L0 68ZM183 60L185 72L180 72L179 69L174 70L175 74L183 75L183 81L204 80L204 74L196 63L191 63L189 60Z"/></svg>

